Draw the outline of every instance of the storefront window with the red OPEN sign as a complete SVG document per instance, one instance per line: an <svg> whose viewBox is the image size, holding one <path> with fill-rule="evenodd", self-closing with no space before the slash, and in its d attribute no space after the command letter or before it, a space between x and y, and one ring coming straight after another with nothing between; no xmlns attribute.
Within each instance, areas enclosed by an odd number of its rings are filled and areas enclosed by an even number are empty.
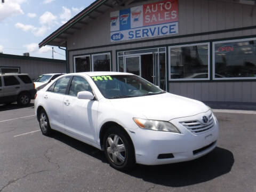
<svg viewBox="0 0 256 192"><path fill-rule="evenodd" d="M256 77L256 40L213 43L214 79Z"/></svg>

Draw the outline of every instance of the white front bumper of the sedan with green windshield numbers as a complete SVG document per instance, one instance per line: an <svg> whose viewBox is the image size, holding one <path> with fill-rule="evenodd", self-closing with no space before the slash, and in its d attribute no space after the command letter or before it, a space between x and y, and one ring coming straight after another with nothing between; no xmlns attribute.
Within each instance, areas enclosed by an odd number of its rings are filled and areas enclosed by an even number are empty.
<svg viewBox="0 0 256 192"><path fill-rule="evenodd" d="M178 125L179 133L137 129L131 133L135 148L136 162L144 165L169 164L190 161L201 157L217 146L219 128L214 117L214 126L202 134L193 134L182 126L180 119L171 121ZM172 154L170 158L159 158Z"/></svg>

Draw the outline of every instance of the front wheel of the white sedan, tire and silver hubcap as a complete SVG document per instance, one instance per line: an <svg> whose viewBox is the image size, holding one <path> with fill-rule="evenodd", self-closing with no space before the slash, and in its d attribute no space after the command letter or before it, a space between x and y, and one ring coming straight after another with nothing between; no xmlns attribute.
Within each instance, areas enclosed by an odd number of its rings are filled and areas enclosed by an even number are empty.
<svg viewBox="0 0 256 192"><path fill-rule="evenodd" d="M103 139L104 153L110 166L120 171L132 170L135 166L135 153L132 141L122 127L110 127Z"/></svg>

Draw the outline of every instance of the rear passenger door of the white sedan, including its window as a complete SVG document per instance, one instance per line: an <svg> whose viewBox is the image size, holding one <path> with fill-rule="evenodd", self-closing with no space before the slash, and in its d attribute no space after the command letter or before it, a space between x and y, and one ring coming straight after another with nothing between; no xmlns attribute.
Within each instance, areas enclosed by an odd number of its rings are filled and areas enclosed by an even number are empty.
<svg viewBox="0 0 256 192"><path fill-rule="evenodd" d="M57 129L64 129L63 99L67 93L70 79L71 76L58 79L43 95L44 108L49 117L51 126Z"/></svg>

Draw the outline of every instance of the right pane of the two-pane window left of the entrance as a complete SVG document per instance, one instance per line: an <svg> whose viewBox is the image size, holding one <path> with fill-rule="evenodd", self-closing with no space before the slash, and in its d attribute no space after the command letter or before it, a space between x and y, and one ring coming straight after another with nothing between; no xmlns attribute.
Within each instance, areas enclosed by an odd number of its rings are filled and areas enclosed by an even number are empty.
<svg viewBox="0 0 256 192"><path fill-rule="evenodd" d="M110 53L94 54L93 71L110 71Z"/></svg>

